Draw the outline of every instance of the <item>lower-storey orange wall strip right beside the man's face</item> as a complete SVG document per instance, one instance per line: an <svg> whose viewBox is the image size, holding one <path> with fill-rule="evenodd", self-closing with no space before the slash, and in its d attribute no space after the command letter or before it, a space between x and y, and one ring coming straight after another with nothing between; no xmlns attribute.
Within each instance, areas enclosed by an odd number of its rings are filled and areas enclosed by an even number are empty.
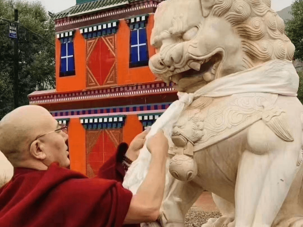
<svg viewBox="0 0 303 227"><path fill-rule="evenodd" d="M86 175L85 129L79 118L68 123L68 150L71 169Z"/></svg>

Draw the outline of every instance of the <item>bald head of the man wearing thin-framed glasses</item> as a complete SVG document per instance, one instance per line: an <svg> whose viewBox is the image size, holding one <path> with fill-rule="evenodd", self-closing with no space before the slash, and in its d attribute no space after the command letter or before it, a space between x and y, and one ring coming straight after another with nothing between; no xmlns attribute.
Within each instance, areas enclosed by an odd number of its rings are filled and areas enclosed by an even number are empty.
<svg viewBox="0 0 303 227"><path fill-rule="evenodd" d="M0 121L0 150L14 167L44 170L53 162L67 167L68 135L60 128L45 108L19 107Z"/></svg>

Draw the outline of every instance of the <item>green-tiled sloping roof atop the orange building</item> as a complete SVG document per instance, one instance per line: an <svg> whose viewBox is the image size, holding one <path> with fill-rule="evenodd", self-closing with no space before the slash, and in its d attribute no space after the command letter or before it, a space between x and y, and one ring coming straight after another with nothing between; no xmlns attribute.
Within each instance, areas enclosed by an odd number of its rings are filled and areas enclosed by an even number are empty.
<svg viewBox="0 0 303 227"><path fill-rule="evenodd" d="M130 3L137 1L140 0L96 0L92 2L85 2L58 12L54 14L52 18L59 19L64 17L80 16L87 13L93 13L95 11L102 11L110 8L129 5Z"/></svg>

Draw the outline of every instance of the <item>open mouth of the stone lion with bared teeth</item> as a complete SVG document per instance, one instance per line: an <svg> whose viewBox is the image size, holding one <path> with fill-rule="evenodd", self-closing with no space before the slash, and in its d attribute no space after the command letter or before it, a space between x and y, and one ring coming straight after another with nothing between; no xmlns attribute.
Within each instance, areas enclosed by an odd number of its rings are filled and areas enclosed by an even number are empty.
<svg viewBox="0 0 303 227"><path fill-rule="evenodd" d="M170 86L177 85L181 79L190 79L193 77L203 77L206 82L211 81L216 77L218 67L223 59L223 53L214 51L211 54L205 55L201 60L189 60L182 67L166 73L166 78L169 77Z"/></svg>

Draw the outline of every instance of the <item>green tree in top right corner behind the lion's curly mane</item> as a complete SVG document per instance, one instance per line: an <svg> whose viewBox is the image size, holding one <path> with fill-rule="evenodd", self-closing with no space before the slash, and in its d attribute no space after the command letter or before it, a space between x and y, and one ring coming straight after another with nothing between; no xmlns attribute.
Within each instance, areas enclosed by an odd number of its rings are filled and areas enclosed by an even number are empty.
<svg viewBox="0 0 303 227"><path fill-rule="evenodd" d="M295 0L291 6L293 19L285 23L285 31L295 45L295 59L303 60L303 0Z"/></svg>

